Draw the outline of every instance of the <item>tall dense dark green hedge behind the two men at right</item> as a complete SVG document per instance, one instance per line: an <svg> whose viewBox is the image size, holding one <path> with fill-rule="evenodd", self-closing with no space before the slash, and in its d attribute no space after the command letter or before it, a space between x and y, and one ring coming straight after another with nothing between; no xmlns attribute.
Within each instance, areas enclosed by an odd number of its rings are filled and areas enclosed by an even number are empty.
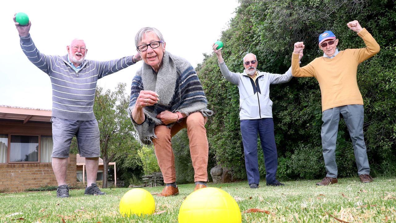
<svg viewBox="0 0 396 223"><path fill-rule="evenodd" d="M247 52L257 55L258 69L285 73L291 63L293 44L304 41L302 65L322 56L318 35L331 30L340 39L338 48L364 47L363 40L346 23L360 21L381 46L379 54L358 67L358 85L364 98L365 140L373 175L396 170L396 5L391 0L241 0L229 29L224 31L223 58L228 68L241 72ZM214 40L215 41L215 40ZM213 42L214 42L213 41ZM225 80L217 57L205 55L197 72L215 115L208 122L210 156L245 178L239 125L238 88ZM270 98L278 147L278 176L317 178L325 175L320 129L321 95L314 78L293 78L273 85ZM260 153L262 156L262 152ZM356 175L352 143L345 122L337 138L339 176ZM259 159L265 175L263 159Z"/></svg>

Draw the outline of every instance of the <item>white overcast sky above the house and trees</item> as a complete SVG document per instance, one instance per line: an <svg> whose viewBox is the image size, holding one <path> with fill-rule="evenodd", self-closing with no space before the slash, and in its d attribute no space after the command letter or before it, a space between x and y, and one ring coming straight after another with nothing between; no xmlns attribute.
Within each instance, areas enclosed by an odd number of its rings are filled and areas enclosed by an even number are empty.
<svg viewBox="0 0 396 223"><path fill-rule="evenodd" d="M156 27L166 50L186 58L194 67L211 53L213 42L228 28L237 0L150 1L57 1L16 0L0 7L0 105L51 109L51 82L35 67L19 46L12 17L25 12L32 22L30 35L40 52L67 54L74 38L85 40L86 59L112 60L135 55L135 35L145 26ZM225 43L226 47L226 43ZM138 62L104 77L98 85L114 90L118 83L130 85Z"/></svg>

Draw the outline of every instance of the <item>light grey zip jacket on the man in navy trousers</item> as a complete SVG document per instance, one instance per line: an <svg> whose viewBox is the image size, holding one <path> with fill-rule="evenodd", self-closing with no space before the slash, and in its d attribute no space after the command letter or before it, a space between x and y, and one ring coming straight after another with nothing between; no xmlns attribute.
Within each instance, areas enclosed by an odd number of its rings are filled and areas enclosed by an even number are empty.
<svg viewBox="0 0 396 223"><path fill-rule="evenodd" d="M244 70L234 73L228 70L225 63L219 63L221 74L227 81L239 88L239 117L243 119L272 118L272 101L270 85L286 83L293 77L291 68L284 74L274 74L257 70L255 83Z"/></svg>

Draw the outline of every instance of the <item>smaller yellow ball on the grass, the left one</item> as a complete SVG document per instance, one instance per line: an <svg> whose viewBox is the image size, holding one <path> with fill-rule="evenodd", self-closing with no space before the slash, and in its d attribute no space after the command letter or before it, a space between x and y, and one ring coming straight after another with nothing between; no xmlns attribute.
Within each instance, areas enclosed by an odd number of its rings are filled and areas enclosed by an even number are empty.
<svg viewBox="0 0 396 223"><path fill-rule="evenodd" d="M155 211L155 201L150 192L142 188L129 190L120 201L120 213L123 217L129 215L146 215Z"/></svg>

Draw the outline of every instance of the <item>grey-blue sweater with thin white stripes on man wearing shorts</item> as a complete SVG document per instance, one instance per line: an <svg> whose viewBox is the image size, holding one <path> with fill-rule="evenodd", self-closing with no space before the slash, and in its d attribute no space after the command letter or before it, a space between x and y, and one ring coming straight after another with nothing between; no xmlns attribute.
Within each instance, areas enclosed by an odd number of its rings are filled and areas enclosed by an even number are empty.
<svg viewBox="0 0 396 223"><path fill-rule="evenodd" d="M81 69L74 71L67 55L50 56L40 53L30 34L20 37L27 58L48 74L52 85L52 116L69 120L95 119L93 102L98 79L134 64L132 56L111 61L84 60Z"/></svg>

